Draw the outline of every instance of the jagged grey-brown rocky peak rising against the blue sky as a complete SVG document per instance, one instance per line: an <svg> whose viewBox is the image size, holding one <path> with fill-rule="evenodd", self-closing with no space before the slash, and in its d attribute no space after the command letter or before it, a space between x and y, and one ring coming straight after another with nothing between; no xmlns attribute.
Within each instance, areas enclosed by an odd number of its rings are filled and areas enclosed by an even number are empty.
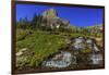
<svg viewBox="0 0 109 75"><path fill-rule="evenodd" d="M60 18L55 9L48 9L48 10L44 11L40 16L41 16L41 20L39 22L39 25L45 28L69 29L69 27L70 27L70 22L68 20Z"/></svg>

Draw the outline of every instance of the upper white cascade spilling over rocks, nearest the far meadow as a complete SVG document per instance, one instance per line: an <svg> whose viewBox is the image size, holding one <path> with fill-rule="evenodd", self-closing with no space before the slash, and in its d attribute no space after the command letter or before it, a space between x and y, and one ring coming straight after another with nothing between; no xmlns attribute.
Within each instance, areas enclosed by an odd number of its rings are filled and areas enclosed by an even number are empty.
<svg viewBox="0 0 109 75"><path fill-rule="evenodd" d="M100 51L100 49L96 45L96 40L90 38L84 38L84 37L73 38L71 42L72 42L70 46L71 50L90 49L94 52Z"/></svg>

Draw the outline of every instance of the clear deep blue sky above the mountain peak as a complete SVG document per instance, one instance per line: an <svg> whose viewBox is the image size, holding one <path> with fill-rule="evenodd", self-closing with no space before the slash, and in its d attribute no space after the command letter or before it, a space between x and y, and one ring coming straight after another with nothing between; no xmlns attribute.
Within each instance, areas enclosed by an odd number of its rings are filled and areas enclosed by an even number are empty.
<svg viewBox="0 0 109 75"><path fill-rule="evenodd" d="M16 4L16 21L20 21L21 17L27 17L31 21L35 13L41 14L51 8L58 12L59 17L69 20L71 25L82 27L102 24L104 9L41 4Z"/></svg>

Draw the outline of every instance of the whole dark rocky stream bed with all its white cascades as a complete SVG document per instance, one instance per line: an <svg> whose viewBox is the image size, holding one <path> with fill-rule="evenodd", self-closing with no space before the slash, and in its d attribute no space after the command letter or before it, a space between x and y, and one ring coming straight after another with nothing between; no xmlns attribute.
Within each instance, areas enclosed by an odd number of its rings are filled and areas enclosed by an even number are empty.
<svg viewBox="0 0 109 75"><path fill-rule="evenodd" d="M69 67L104 64L101 49L90 38L76 37L68 40L68 46L43 62L47 67ZM73 67L73 66L72 66Z"/></svg>

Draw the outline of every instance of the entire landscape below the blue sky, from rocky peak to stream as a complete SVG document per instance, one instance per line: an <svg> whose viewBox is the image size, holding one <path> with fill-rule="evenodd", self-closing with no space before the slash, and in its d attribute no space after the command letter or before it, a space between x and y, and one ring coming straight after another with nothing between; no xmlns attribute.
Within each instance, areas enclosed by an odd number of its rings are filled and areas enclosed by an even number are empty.
<svg viewBox="0 0 109 75"><path fill-rule="evenodd" d="M55 9L35 15L32 22L22 20L16 27L16 70L102 66L100 27L70 25L69 20L59 17Z"/></svg>

